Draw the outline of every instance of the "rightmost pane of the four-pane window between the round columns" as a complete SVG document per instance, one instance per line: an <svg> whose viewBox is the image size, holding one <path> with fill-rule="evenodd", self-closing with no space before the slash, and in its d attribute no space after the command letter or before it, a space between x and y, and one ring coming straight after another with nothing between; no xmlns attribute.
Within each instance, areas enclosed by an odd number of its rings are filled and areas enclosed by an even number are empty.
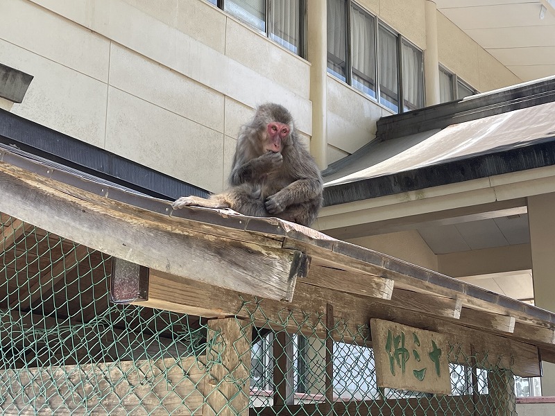
<svg viewBox="0 0 555 416"><path fill-rule="evenodd" d="M424 107L424 61L422 51L402 42L403 111Z"/></svg>

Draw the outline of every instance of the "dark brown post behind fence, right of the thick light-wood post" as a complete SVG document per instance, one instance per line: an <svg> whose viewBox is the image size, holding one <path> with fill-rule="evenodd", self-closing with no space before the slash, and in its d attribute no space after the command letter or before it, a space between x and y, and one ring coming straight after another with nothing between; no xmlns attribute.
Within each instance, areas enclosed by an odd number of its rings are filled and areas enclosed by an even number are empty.
<svg viewBox="0 0 555 416"><path fill-rule="evenodd" d="M295 374L293 372L293 336L285 331L273 340L273 406L295 404Z"/></svg>

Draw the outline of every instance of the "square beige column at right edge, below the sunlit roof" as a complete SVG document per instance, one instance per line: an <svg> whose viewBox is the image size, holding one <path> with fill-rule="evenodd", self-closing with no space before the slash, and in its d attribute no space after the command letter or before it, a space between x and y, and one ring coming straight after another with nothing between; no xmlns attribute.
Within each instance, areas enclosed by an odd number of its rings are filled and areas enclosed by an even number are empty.
<svg viewBox="0 0 555 416"><path fill-rule="evenodd" d="M555 193L528 197L532 251L533 294L536 306L555 311ZM555 396L555 364L542 363L542 395Z"/></svg>

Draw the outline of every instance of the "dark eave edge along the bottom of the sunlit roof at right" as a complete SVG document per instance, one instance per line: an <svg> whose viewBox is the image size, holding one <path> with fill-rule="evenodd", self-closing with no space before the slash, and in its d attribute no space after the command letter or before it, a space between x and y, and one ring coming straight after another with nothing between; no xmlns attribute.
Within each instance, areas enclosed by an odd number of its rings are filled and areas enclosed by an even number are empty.
<svg viewBox="0 0 555 416"><path fill-rule="evenodd" d="M509 149L502 146L498 149L488 150L488 154L477 153L465 159L453 159L411 171L325 187L324 205L345 204L394 193L416 191L555 165L555 132L553 135L529 143L526 146L513 146Z"/></svg>

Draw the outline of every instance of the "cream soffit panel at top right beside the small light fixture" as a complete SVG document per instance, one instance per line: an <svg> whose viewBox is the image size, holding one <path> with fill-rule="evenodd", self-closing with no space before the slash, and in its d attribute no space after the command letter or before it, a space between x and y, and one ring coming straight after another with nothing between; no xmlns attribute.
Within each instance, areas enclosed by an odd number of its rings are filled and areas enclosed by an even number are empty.
<svg viewBox="0 0 555 416"><path fill-rule="evenodd" d="M540 19L541 6L537 1L439 10L463 30L555 25L555 17L551 13L545 13L544 19Z"/></svg>

